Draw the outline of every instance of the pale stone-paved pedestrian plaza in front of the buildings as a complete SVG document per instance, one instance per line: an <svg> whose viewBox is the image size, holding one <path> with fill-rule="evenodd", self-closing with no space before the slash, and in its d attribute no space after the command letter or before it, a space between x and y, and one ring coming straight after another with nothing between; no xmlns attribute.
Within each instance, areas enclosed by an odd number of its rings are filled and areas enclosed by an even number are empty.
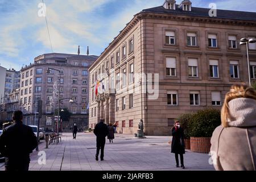
<svg viewBox="0 0 256 182"><path fill-rule="evenodd" d="M38 163L38 152L31 154L31 171L172 171L172 170L214 170L209 164L208 154L186 150L185 169L176 168L174 154L170 153L171 137L147 137L137 139L133 135L116 134L114 143L106 140L104 161L96 161L96 137L93 133L64 133L62 142L53 143L46 149L43 142L40 151L46 152L46 164ZM4 168L0 163L0 171ZM2 166L2 167L1 167Z"/></svg>

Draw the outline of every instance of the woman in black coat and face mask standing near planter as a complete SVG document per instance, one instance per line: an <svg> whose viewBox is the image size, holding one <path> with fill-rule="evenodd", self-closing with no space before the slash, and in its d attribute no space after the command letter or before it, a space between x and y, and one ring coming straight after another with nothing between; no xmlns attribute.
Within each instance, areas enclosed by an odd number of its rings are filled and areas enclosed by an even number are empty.
<svg viewBox="0 0 256 182"><path fill-rule="evenodd" d="M175 154L176 167L179 167L179 155L181 168L184 167L183 154L185 154L184 131L180 127L180 122L175 121L175 126L172 128L172 147L171 152Z"/></svg>

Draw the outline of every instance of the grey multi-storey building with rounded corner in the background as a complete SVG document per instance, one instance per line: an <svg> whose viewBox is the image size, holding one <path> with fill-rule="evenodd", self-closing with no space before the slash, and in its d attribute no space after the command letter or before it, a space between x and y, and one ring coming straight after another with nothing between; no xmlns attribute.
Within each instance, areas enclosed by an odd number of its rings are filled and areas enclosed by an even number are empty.
<svg viewBox="0 0 256 182"><path fill-rule="evenodd" d="M56 131L54 111L58 107L60 78L60 109L67 108L72 116L69 122L63 121L59 126L62 130L69 130L76 122L79 127L86 127L86 108L89 101L88 68L96 59L97 56L47 53L35 57L34 64L23 67L20 71L19 108L24 113L24 123L37 125L38 101L42 100L43 115L40 127ZM51 73L47 73L48 68ZM69 102L71 99L72 103Z"/></svg>

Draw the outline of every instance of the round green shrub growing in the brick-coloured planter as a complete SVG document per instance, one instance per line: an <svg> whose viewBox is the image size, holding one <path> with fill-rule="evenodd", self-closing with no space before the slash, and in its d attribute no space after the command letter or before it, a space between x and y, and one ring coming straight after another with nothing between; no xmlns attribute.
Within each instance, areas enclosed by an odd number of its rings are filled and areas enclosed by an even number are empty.
<svg viewBox="0 0 256 182"><path fill-rule="evenodd" d="M221 125L220 110L199 110L189 119L189 137L212 137L216 127Z"/></svg>

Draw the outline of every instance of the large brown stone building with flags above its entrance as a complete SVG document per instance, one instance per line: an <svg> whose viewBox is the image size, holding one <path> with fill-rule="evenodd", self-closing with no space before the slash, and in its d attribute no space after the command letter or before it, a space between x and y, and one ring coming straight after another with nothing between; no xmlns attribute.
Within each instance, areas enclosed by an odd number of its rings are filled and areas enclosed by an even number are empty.
<svg viewBox="0 0 256 182"><path fill-rule="evenodd" d="M146 135L168 135L179 115L221 109L231 85L248 82L248 72L255 80L256 44L249 44L249 71L246 47L239 43L256 38L256 13L217 10L210 17L209 9L191 1L175 3L168 0L135 15L89 68L90 127L102 118L117 123L118 133L133 134L142 119ZM133 77L137 73L146 79ZM144 92L148 73L159 76L156 100ZM96 84L104 85L97 96ZM133 88L137 92L119 92Z"/></svg>

